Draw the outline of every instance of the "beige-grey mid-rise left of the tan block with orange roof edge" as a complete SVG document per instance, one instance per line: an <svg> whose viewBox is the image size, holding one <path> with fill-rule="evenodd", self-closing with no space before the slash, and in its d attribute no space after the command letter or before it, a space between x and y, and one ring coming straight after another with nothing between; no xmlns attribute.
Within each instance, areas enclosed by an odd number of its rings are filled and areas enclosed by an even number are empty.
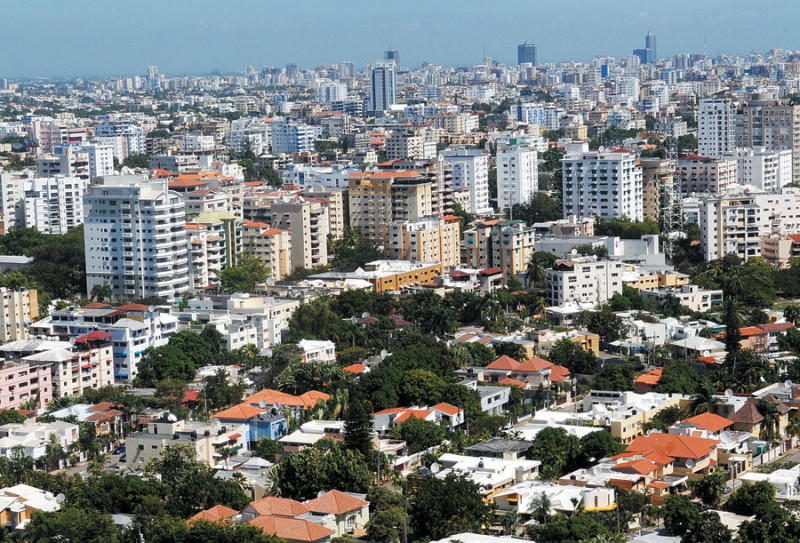
<svg viewBox="0 0 800 543"><path fill-rule="evenodd" d="M281 197L270 205L272 226L291 232L292 269L328 263L328 207L317 199Z"/></svg>

